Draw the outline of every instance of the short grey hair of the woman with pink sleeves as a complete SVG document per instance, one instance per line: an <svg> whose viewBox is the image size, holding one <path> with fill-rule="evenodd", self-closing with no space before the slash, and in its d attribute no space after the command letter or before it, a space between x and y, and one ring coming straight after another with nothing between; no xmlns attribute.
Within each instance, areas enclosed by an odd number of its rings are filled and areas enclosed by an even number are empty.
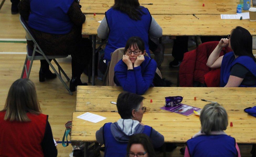
<svg viewBox="0 0 256 157"><path fill-rule="evenodd" d="M223 131L228 126L228 114L218 103L204 106L200 114L201 132L209 135L211 131Z"/></svg>

